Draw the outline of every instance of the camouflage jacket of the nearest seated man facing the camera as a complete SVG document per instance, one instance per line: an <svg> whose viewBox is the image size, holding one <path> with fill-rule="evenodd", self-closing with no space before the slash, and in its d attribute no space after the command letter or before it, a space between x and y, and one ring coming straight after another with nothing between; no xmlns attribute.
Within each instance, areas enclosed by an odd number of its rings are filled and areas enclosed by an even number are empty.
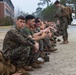
<svg viewBox="0 0 76 75"><path fill-rule="evenodd" d="M28 38L26 35L22 34L20 30L18 30L15 27L15 28L11 28L6 33L4 41L3 41L2 51L5 58L10 59L10 55L12 54L13 50L16 50L16 48L20 46L33 47L34 44L35 42L31 38Z"/></svg>

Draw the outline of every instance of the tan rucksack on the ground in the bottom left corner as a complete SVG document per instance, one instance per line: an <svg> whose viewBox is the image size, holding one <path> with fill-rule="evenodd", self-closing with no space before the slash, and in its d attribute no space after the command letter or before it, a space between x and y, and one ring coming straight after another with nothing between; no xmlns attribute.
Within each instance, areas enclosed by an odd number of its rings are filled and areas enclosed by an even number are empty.
<svg viewBox="0 0 76 75"><path fill-rule="evenodd" d="M2 51L0 51L0 75L11 75L16 71L16 67L4 59Z"/></svg>

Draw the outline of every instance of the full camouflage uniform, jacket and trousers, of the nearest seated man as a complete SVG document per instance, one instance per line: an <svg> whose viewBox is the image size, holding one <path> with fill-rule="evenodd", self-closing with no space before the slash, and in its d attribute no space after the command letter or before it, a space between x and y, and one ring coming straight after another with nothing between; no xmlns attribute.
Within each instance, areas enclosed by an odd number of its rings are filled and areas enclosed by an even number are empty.
<svg viewBox="0 0 76 75"><path fill-rule="evenodd" d="M30 54L30 48L33 47L35 42L25 36L14 27L10 29L3 41L3 54L5 59L11 59L11 62L15 65L23 66L27 65Z"/></svg>

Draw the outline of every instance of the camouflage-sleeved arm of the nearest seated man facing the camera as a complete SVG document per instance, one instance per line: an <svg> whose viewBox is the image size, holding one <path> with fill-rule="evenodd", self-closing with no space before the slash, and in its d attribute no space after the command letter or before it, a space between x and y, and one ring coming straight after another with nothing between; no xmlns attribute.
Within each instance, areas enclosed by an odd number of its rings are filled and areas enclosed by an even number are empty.
<svg viewBox="0 0 76 75"><path fill-rule="evenodd" d="M8 32L9 33L9 32ZM34 43L32 43L28 37L23 37L22 35L20 35L18 32L16 32L15 30L11 30L10 31L10 38L11 40L21 44L21 45L27 45L27 46L34 46Z"/></svg>

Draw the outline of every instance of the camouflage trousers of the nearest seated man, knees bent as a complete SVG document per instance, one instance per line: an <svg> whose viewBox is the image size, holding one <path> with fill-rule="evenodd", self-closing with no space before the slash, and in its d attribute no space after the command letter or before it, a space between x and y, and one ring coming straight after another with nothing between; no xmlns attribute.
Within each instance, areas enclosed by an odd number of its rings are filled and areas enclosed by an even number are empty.
<svg viewBox="0 0 76 75"><path fill-rule="evenodd" d="M20 46L13 50L11 54L11 63L15 65L27 65L27 59L30 54L30 47Z"/></svg>

